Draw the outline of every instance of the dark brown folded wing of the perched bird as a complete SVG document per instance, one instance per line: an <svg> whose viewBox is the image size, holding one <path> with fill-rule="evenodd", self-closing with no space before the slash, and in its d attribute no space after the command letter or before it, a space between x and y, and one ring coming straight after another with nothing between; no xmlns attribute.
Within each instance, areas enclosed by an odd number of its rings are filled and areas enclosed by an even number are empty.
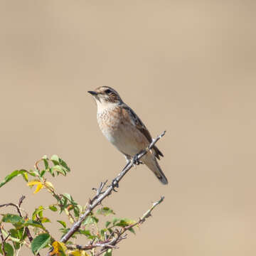
<svg viewBox="0 0 256 256"><path fill-rule="evenodd" d="M144 125L142 120L139 119L137 114L127 105L123 105L122 109L125 110L127 114L129 114L129 117L132 120L132 123L134 124L134 126L137 127L137 129L139 129L139 131L142 132L142 134L144 135L144 137L146 137L149 143L151 143L152 142L151 134L149 133L149 130L146 129L146 126ZM157 159L160 159L160 156L164 156L156 146L153 146L153 149L156 152Z"/></svg>

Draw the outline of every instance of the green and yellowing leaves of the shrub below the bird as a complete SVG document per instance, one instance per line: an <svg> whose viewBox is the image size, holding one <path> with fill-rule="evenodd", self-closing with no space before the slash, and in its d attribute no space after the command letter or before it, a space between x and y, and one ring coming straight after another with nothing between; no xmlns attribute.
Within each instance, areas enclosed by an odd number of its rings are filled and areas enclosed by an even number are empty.
<svg viewBox="0 0 256 256"><path fill-rule="evenodd" d="M41 169L39 168L41 167ZM85 218L77 232L73 234L73 239L66 243L60 242L53 238L45 227L45 223L51 222L49 213L55 213L58 216L58 226L61 238L70 230L75 222L78 221L80 215L85 213L87 204L80 205L75 198L68 193L57 193L53 183L48 181L48 178L55 178L59 175L67 176L70 168L63 159L57 155L53 155L48 159L43 156L36 162L34 169L29 171L25 169L13 171L6 176L0 183L0 187L6 185L9 181L17 176L22 176L26 185L33 188L33 193L41 193L46 191L53 196L53 201L50 205L45 205L43 202L38 202L33 213L28 214L21 209L21 203L24 199L21 198L18 204L6 203L1 206L14 206L16 214L5 213L1 215L0 220L0 255L12 256L22 246L28 245L34 255L40 255L43 248L48 247L48 255L97 255L102 248L105 248L105 256L112 255L114 246L110 246L110 241L119 236L121 240L122 233L129 230L135 233L134 227L139 225L139 222L130 220L129 218L113 218L114 210L107 206L98 206L95 212ZM49 175L48 175L49 174ZM69 223L66 223L64 215L68 216ZM139 220L141 221L141 220ZM6 225L11 223L10 225ZM84 239L84 247L75 245L75 239L82 237ZM117 240L119 241L119 240ZM105 243L105 247L102 244Z"/></svg>

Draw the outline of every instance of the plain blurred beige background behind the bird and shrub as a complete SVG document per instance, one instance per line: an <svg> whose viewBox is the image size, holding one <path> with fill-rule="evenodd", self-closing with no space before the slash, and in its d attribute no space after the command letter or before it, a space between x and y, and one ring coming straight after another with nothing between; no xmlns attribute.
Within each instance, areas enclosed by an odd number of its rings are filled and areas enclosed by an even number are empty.
<svg viewBox="0 0 256 256"><path fill-rule="evenodd" d="M169 178L162 186L138 166L107 198L117 217L136 219L166 196L114 255L255 255L255 7L1 0L1 179L58 154L72 172L55 187L86 203L125 163L100 133L87 94L109 85L153 137L167 130L158 146ZM21 194L29 210L53 202L17 178L1 188L1 203Z"/></svg>

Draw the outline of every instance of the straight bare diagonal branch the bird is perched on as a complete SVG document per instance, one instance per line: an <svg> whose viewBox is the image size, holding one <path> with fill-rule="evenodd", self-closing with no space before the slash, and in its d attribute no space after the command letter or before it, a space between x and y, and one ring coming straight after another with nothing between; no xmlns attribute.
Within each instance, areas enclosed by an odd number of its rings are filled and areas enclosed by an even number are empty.
<svg viewBox="0 0 256 256"><path fill-rule="evenodd" d="M98 188L97 190L97 195L88 203L87 210L85 210L85 213L83 213L78 219L78 221L73 224L70 230L68 230L68 233L66 233L63 236L63 238L60 239L60 242L64 242L64 243L67 242L74 235L74 233L78 231L78 229L80 228L80 225L82 224L82 221L85 220L85 218L88 215L90 215L91 211L96 206L98 206L103 199L105 199L107 196L110 196L112 191L114 191L114 186L116 186L119 183L119 181L122 180L122 178L124 177L125 174L127 174L129 169L131 169L132 166L134 166L134 164L136 164L139 161L139 159L141 159L142 156L144 156L154 146L154 144L156 144L156 142L158 142L159 139L161 139L161 137L164 136L165 133L166 132L164 131L162 134L159 135L159 137L156 137L156 139L152 139L151 144L149 144L149 146L146 147L146 149L142 150L139 154L135 155L132 158L132 160L129 161L129 163L126 166L124 166L124 169L122 169L120 174L118 174L117 177L114 178L112 185L110 185L106 191L102 192L106 182L100 183L100 188Z"/></svg>

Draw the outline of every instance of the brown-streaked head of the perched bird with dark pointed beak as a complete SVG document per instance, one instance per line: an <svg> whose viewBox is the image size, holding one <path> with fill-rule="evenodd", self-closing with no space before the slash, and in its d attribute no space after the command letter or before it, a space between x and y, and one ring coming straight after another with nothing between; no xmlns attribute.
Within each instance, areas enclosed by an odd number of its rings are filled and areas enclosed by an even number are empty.
<svg viewBox="0 0 256 256"><path fill-rule="evenodd" d="M97 87L94 91L88 91L97 103L97 107L111 107L122 103L122 99L116 90L108 86Z"/></svg>

